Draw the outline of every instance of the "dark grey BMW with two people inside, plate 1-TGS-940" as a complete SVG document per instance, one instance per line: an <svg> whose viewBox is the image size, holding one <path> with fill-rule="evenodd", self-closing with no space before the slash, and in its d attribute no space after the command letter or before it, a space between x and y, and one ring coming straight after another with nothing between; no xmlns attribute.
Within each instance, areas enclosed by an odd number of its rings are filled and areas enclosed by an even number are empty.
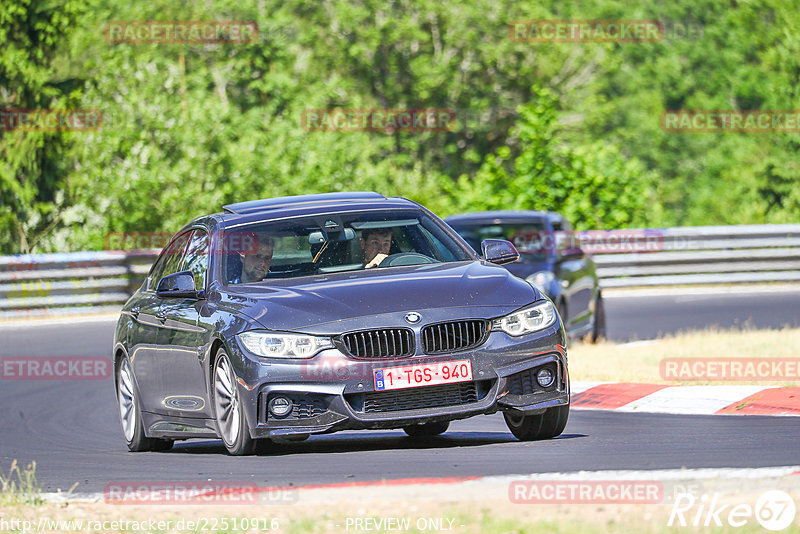
<svg viewBox="0 0 800 534"><path fill-rule="evenodd" d="M384 247L372 261L372 240ZM553 303L402 198L338 193L224 207L181 229L122 310L114 368L132 451L402 428L502 411L521 440L569 416ZM372 256L370 254L370 256ZM370 265L372 264L372 265Z"/></svg>

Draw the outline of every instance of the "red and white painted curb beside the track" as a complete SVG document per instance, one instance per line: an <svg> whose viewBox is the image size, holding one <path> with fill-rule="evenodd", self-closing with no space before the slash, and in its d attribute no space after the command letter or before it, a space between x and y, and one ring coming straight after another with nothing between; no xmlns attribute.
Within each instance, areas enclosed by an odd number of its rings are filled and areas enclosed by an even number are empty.
<svg viewBox="0 0 800 534"><path fill-rule="evenodd" d="M690 415L800 416L800 387L572 382L571 407Z"/></svg>

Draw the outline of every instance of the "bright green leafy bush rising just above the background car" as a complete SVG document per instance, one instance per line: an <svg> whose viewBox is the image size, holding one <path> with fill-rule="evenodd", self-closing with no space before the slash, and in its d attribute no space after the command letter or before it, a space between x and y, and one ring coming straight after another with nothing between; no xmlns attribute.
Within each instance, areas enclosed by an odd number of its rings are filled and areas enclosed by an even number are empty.
<svg viewBox="0 0 800 534"><path fill-rule="evenodd" d="M648 199L652 173L603 141L573 147L557 124L552 91L533 91L520 108L510 146L490 154L474 179L462 175L456 187L444 184L453 211L542 209L566 215L578 229L646 224L657 205Z"/></svg>

